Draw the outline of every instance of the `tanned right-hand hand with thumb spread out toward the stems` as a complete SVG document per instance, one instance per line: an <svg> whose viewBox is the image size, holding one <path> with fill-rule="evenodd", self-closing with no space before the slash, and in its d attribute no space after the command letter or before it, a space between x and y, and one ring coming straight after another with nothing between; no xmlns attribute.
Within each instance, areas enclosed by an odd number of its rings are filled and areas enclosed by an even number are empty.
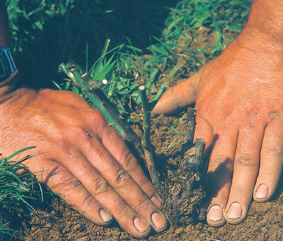
<svg viewBox="0 0 283 241"><path fill-rule="evenodd" d="M153 115L192 104L194 139L210 154L207 223L238 224L252 198L270 199L282 168L282 43L247 26L216 59L167 90Z"/></svg>

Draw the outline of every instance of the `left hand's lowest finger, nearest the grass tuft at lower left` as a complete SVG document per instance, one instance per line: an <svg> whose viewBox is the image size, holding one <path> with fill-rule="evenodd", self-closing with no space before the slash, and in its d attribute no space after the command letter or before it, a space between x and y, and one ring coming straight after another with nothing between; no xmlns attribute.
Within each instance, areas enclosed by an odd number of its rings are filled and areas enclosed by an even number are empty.
<svg viewBox="0 0 283 241"><path fill-rule="evenodd" d="M39 182L87 219L101 226L112 222L112 215L92 197L78 178L59 163L32 157L29 170L35 173Z"/></svg>

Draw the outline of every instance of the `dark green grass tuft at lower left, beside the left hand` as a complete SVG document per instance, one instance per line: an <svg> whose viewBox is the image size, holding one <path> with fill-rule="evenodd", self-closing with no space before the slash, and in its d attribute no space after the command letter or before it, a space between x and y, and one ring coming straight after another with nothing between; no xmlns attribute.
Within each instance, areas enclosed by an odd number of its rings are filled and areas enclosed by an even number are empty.
<svg viewBox="0 0 283 241"><path fill-rule="evenodd" d="M35 194L34 185L40 187L38 179L21 164L31 156L20 161L13 161L12 159L17 154L31 148L33 147L22 149L7 158L0 157L0 240L18 237L19 232L13 230L10 226L13 227L16 220L19 219L21 210L33 211L28 200L39 199L38 195L35 198L32 197L32 194ZM18 171L24 171L27 174L20 175L17 174ZM7 224L10 226L7 227Z"/></svg>

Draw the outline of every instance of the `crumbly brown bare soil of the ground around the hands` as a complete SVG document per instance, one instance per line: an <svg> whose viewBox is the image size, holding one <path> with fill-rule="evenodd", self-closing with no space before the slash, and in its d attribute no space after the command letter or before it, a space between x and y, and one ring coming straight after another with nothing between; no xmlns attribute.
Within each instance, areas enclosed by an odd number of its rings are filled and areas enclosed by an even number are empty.
<svg viewBox="0 0 283 241"><path fill-rule="evenodd" d="M207 34L205 28L200 28L200 35L192 42L191 47L198 49L213 45L213 34ZM211 37L211 36L212 37ZM182 41L180 40L180 44ZM186 43L184 43L186 44ZM180 50L181 51L181 50ZM188 70L187 74L190 73ZM167 79L170 85L180 81ZM166 172L176 170L180 164L180 143L183 137L173 130L172 126L180 133L184 133L186 114L180 113L174 117L158 116L152 120L152 144L156 147L157 166ZM176 146L174 146L177 144ZM171 147L171 148L169 148ZM169 150L168 150L169 149ZM279 184L282 184L282 179ZM208 184L209 186L209 184ZM178 226L173 223L170 229L162 234L149 237L150 241L165 240L230 240L230 241L277 241L283 239L283 186L279 185L273 200L265 203L252 202L247 219L239 225L226 224L220 228L213 228L204 222L196 222ZM78 212L72 210L58 198L45 196L46 200L32 203L37 214L22 215L20 221L10 223L11 227L18 228L26 241L118 241L136 240L131 235L119 228L117 223L111 227L100 227ZM27 226L26 231L24 226Z"/></svg>

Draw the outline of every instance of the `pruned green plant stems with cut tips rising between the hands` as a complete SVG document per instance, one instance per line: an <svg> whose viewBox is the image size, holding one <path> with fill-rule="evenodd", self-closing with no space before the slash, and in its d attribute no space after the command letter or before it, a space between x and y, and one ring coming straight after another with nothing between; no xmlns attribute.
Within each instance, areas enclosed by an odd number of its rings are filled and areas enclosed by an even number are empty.
<svg viewBox="0 0 283 241"><path fill-rule="evenodd" d="M153 149L151 148L150 134L151 111L156 105L157 101L160 99L161 95L164 93L166 87L162 86L157 95L153 98L153 101L150 103L147 97L145 86L140 86L138 88L144 108L144 138L143 143L141 143L140 138L126 123L125 119L120 115L120 112L117 110L116 106L114 106L114 104L100 89L100 86L102 86L104 83L93 80L87 73L82 75L79 69L71 63L68 63L67 65L61 64L59 66L59 69L62 70L74 82L75 85L81 87L81 89L89 97L91 102L106 119L108 124L112 126L125 141L131 143L138 151L141 151L140 147L143 146L145 159L152 178L152 182L159 194L163 197L164 185L159 178L159 173L153 161Z"/></svg>

